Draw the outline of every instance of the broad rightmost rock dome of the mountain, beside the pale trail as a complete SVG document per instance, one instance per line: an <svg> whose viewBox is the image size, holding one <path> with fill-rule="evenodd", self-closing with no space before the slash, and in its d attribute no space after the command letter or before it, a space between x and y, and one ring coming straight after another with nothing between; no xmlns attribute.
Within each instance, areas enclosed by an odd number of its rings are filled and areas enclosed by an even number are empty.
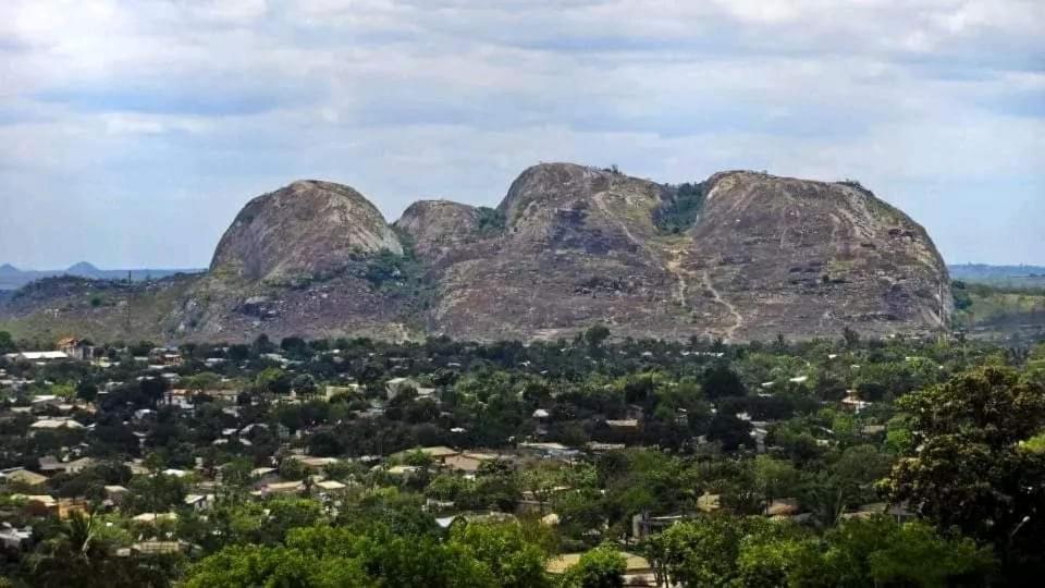
<svg viewBox="0 0 1045 588"><path fill-rule="evenodd" d="M859 185L751 172L709 185L678 269L726 339L948 323L950 282L925 230Z"/></svg>

